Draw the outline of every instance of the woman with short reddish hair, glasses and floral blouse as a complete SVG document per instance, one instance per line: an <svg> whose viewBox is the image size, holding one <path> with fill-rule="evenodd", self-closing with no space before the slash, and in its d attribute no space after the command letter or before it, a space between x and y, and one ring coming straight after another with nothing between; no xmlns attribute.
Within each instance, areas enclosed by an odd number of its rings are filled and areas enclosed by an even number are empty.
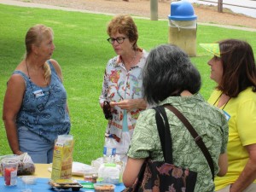
<svg viewBox="0 0 256 192"><path fill-rule="evenodd" d="M114 137L116 153L126 162L138 115L147 107L142 93L142 70L148 53L137 46L137 26L130 15L114 16L107 32L108 43L117 55L108 61L100 105L104 112L109 112L105 113L106 136ZM109 104L104 105L106 102Z"/></svg>

